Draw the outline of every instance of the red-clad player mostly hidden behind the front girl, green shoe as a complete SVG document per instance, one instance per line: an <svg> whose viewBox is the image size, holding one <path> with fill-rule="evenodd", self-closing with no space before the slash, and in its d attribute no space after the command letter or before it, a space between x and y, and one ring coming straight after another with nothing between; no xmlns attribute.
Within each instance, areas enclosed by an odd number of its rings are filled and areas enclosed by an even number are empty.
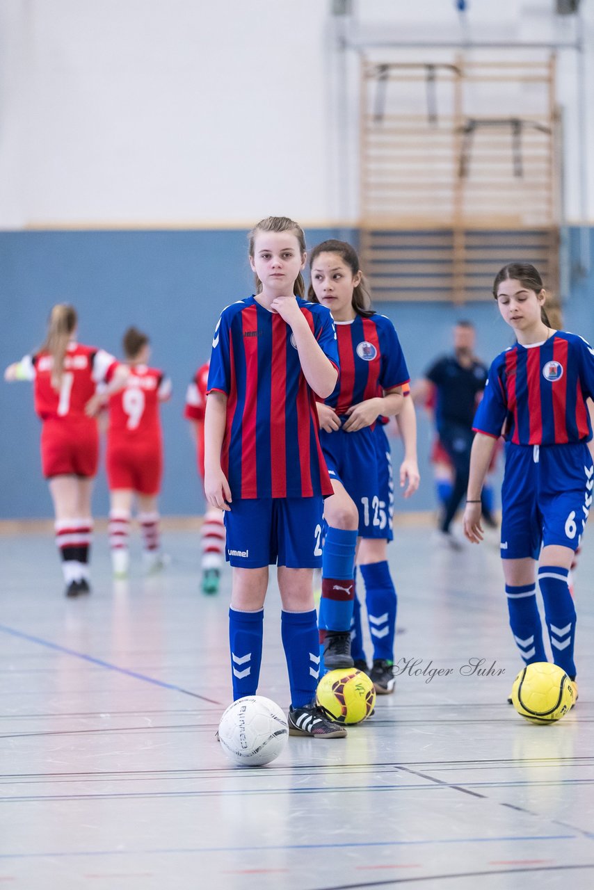
<svg viewBox="0 0 594 890"><path fill-rule="evenodd" d="M191 421L195 432L198 450L198 471L204 485L204 411L207 404L207 380L210 362L196 372L185 397L183 417ZM202 557L202 591L205 594L218 593L221 569L224 562L225 531L223 512L207 503L206 513L200 529Z"/></svg>

